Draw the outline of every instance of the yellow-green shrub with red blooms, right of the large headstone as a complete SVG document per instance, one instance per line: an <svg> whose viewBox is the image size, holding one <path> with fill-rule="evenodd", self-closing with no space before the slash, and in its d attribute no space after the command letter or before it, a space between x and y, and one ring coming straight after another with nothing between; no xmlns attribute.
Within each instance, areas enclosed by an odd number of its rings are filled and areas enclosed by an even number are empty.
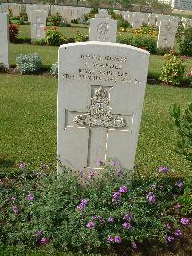
<svg viewBox="0 0 192 256"><path fill-rule="evenodd" d="M164 64L159 79L173 86L180 85L184 79L186 67L180 56L174 55L172 51L164 55Z"/></svg>

